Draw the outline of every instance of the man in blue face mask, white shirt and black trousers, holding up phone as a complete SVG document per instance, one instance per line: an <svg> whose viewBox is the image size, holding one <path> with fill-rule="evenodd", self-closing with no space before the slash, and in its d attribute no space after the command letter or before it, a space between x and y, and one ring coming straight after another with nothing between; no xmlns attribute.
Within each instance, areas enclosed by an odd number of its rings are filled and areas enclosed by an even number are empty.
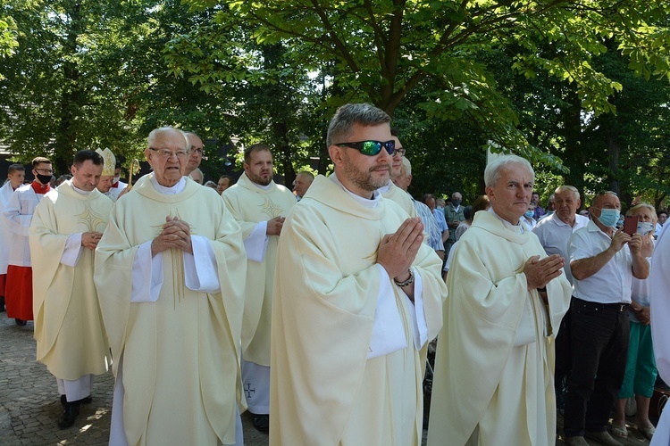
<svg viewBox="0 0 670 446"><path fill-rule="evenodd" d="M591 220L568 243L573 273L571 304L573 370L565 401L568 445L587 445L584 436L616 445L607 432L609 412L624 380L628 352L628 306L632 277L649 276L639 234L616 230L621 203L614 192L593 198Z"/></svg>

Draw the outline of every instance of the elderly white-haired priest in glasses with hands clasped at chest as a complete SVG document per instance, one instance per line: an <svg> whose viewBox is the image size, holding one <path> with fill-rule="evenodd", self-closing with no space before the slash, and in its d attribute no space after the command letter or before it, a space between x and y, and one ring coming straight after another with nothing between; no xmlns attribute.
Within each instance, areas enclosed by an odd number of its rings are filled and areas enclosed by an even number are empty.
<svg viewBox="0 0 670 446"><path fill-rule="evenodd" d="M237 409L247 260L219 195L184 178L189 146L157 128L153 173L118 200L95 281L113 352L110 444L242 444Z"/></svg>

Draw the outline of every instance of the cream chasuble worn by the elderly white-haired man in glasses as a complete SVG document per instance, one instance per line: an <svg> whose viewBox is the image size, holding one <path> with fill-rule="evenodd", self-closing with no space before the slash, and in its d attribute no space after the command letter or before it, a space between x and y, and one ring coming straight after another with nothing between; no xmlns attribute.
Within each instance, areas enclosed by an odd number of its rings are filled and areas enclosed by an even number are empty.
<svg viewBox="0 0 670 446"><path fill-rule="evenodd" d="M238 277L247 267L239 225L209 187L185 179L180 193L161 194L151 176L116 202L96 251L95 281L117 379L122 360L126 438L131 445L232 444L244 293ZM160 234L166 216L185 220L192 235L209 240L221 290L189 289L183 260L189 254L171 249L159 254L158 299L131 303L138 247Z"/></svg>

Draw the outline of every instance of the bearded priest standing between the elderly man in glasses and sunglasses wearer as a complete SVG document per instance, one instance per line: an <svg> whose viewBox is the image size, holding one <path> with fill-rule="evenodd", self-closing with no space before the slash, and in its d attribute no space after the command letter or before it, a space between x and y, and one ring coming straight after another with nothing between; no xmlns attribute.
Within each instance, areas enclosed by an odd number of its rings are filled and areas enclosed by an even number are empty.
<svg viewBox="0 0 670 446"><path fill-rule="evenodd" d="M277 242L286 214L296 205L287 187L272 181L272 152L264 144L244 153L244 173L222 198L242 228L247 285L242 320L242 386L252 424L267 432L270 413L270 331Z"/></svg>

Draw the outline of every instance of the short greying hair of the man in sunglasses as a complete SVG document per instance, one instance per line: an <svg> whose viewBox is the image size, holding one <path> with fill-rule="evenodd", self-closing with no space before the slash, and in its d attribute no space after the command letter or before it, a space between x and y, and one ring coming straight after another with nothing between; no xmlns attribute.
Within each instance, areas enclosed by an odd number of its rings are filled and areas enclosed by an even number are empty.
<svg viewBox="0 0 670 446"><path fill-rule="evenodd" d="M390 116L386 111L375 107L372 103L347 103L339 107L328 125L326 148L333 144L346 143L351 135L354 124L360 126L378 126L389 124ZM390 126L389 126L390 128ZM337 141L337 143L336 143Z"/></svg>

